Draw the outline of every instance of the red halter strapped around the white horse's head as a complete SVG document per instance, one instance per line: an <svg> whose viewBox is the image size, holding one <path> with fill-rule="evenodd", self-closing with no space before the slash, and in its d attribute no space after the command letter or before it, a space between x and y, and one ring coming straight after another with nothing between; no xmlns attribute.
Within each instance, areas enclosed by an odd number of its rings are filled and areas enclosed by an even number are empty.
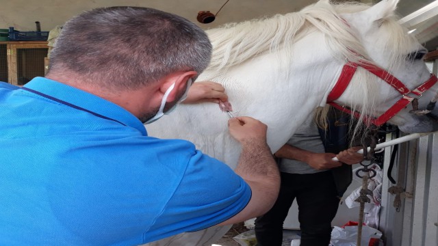
<svg viewBox="0 0 438 246"><path fill-rule="evenodd" d="M337 79L337 83L335 84L335 87L333 87L333 90L330 92L329 96L327 97L327 103L341 111L355 115L356 118L359 118L359 116L361 115L359 112L352 111L351 109L348 109L345 106L341 106L336 102L334 102L334 100L339 98L342 95L342 93L344 93L353 75L357 70L357 66L361 66L362 68L365 68L369 72L372 72L372 74L375 74L377 77L383 79L384 81L386 81L386 83L394 87L398 92L400 92L400 94L402 94L402 98L400 98L400 100L398 100L396 104L392 105L392 107L390 107L385 113L383 113L378 118L373 118L372 120L370 120L370 122L375 126L381 126L383 123L387 122L389 119L394 117L394 115L396 115L400 110L404 109L404 107L407 107L407 105L410 102L412 102L412 100L415 99L415 97L407 96L407 94L412 93L420 97L423 92L430 89L430 87L435 85L435 83L437 83L438 80L434 74L430 74L430 79L428 79L422 85L411 91L400 80L398 80L396 77L394 77L386 70L379 68L378 66L366 62L365 63L362 62L360 64L348 62L347 64L344 65L344 68L342 68L341 75L339 76L339 79ZM367 120L368 119L365 117L365 122Z"/></svg>

